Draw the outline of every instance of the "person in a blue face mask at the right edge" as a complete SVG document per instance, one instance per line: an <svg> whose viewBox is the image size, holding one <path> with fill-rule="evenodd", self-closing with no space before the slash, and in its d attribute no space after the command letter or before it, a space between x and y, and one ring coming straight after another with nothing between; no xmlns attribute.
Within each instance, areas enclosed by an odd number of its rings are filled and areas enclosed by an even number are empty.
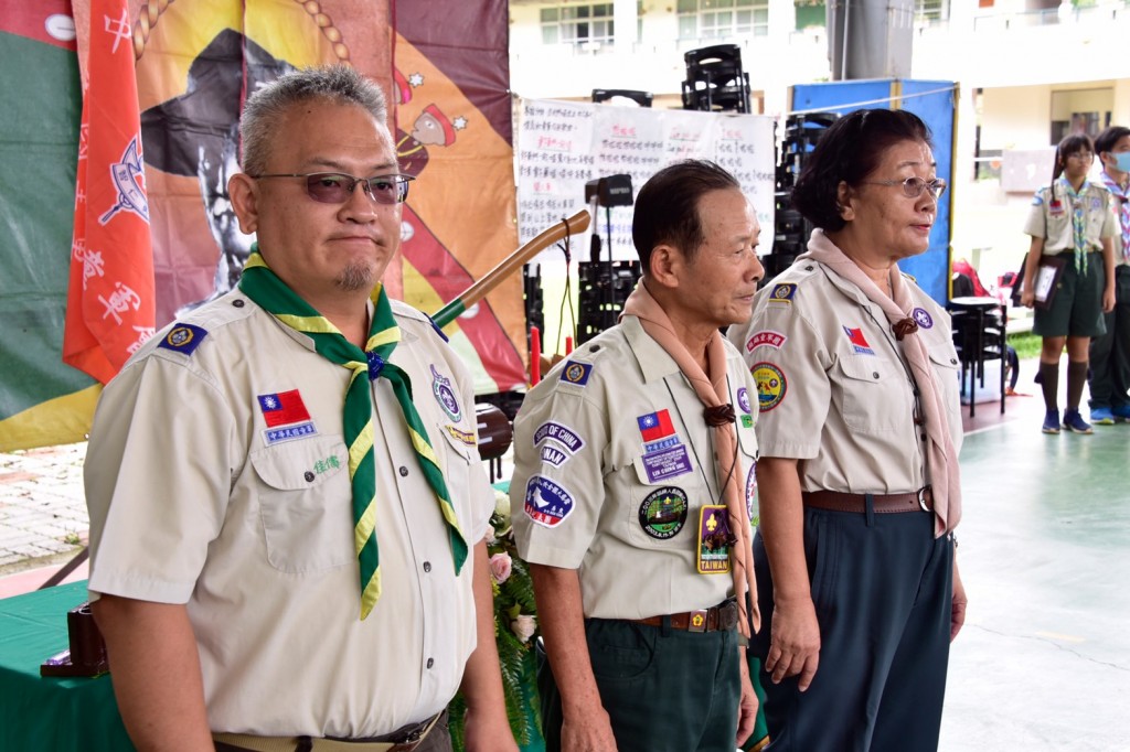
<svg viewBox="0 0 1130 752"><path fill-rule="evenodd" d="M1114 234L1114 311L1106 333L1090 340L1090 422L1130 422L1130 128L1112 125L1095 139L1098 180L1111 192L1119 225Z"/></svg>

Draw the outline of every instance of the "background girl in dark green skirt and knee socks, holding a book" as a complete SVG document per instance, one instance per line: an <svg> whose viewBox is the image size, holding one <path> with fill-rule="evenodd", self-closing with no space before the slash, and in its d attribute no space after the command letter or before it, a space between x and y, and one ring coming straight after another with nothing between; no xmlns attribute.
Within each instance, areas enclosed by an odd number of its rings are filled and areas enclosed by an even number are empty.
<svg viewBox="0 0 1130 752"><path fill-rule="evenodd" d="M1114 309L1112 238L1119 227L1110 192L1087 180L1094 159L1095 148L1086 135L1060 141L1052 182L1036 191L1024 224L1032 245L1024 262L1020 305L1035 306L1032 331L1043 338L1036 381L1044 393L1045 434L1060 432L1059 361L1064 346L1063 428L1094 432L1079 414L1079 401L1087 383L1090 339L1106 332L1103 314Z"/></svg>

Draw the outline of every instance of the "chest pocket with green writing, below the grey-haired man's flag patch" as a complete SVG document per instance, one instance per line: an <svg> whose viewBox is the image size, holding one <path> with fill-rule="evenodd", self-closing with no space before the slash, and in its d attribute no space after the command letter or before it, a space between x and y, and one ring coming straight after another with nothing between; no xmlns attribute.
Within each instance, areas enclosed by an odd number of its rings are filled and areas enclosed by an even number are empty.
<svg viewBox="0 0 1130 752"><path fill-rule="evenodd" d="M263 484L260 517L275 569L312 575L356 559L349 453L340 436L264 447L251 464Z"/></svg>

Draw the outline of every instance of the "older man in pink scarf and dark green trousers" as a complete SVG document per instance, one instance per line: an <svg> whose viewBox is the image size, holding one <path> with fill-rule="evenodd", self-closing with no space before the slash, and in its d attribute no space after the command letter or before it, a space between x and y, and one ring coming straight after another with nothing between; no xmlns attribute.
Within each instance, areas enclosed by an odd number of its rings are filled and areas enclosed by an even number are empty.
<svg viewBox="0 0 1130 752"><path fill-rule="evenodd" d="M547 749L731 752L757 707L740 647L757 388L719 327L749 318L759 228L729 173L683 161L641 189L632 233L643 279L620 323L515 422Z"/></svg>

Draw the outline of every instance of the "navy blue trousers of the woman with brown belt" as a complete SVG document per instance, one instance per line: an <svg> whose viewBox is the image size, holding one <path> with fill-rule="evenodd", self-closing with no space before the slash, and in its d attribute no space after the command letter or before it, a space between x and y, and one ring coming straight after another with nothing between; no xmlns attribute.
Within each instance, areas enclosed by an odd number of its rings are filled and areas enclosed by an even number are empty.
<svg viewBox="0 0 1130 752"><path fill-rule="evenodd" d="M938 749L949 661L953 542L933 515L805 509L805 553L819 667L808 690L760 672L773 752L927 752ZM765 659L773 579L760 534L754 565Z"/></svg>

